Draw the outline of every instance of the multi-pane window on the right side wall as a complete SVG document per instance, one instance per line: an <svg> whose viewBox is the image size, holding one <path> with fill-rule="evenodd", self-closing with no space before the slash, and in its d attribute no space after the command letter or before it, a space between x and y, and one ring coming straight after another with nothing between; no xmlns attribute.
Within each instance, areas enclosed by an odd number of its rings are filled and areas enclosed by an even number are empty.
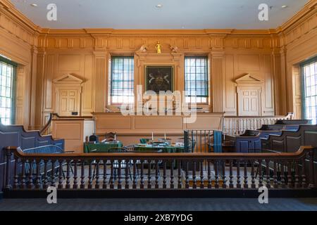
<svg viewBox="0 0 317 225"><path fill-rule="evenodd" d="M302 64L302 112L304 119L317 122L317 57Z"/></svg>

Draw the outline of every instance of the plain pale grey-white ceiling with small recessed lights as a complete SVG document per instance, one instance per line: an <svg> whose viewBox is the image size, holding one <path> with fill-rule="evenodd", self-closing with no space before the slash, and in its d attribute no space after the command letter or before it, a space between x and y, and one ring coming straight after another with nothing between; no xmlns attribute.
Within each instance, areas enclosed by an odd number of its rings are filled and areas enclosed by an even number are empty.
<svg viewBox="0 0 317 225"><path fill-rule="evenodd" d="M46 28L269 29L297 13L308 0L11 0L33 23ZM37 4L37 7L30 4ZM48 4L57 21L46 20ZM266 3L269 21L259 21ZM162 8L156 8L162 4ZM287 5L287 8L281 6Z"/></svg>

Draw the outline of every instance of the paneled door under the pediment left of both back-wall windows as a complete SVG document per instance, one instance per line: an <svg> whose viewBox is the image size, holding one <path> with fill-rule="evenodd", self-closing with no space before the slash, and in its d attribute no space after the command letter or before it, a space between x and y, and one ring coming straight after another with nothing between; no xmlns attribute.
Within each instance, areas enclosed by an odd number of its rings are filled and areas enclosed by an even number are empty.
<svg viewBox="0 0 317 225"><path fill-rule="evenodd" d="M58 90L58 115L77 116L80 114L80 93L78 89Z"/></svg>

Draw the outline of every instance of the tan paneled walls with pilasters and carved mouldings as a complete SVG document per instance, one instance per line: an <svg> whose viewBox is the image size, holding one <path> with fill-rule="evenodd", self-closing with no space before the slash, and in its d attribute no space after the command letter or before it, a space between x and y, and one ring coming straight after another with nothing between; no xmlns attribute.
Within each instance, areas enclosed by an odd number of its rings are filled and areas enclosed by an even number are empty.
<svg viewBox="0 0 317 225"><path fill-rule="evenodd" d="M235 79L251 74L263 80L262 115L295 110L299 117L296 66L317 53L316 2L309 1L273 30L49 30L34 25L9 1L1 1L0 53L19 63L17 122L42 127L56 110L53 81L65 74L83 80L81 115L104 112L108 60L122 54L135 56L135 84L144 82L144 65L175 65L178 90L184 89L184 56L209 56L209 110L237 115ZM163 46L161 55L155 53L157 41ZM149 47L147 53L138 52L143 44Z"/></svg>

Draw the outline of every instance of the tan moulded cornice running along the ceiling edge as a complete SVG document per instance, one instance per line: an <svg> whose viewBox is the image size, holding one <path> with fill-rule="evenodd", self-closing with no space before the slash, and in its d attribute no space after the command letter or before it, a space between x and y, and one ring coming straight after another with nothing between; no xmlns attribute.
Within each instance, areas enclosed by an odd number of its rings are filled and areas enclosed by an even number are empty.
<svg viewBox="0 0 317 225"><path fill-rule="evenodd" d="M35 23L32 23L25 15L20 13L9 0L0 1L0 11L10 14L15 23L25 27L32 34L39 34L40 37L156 37L156 38L191 38L191 37L215 37L224 36L225 38L271 38L270 35L280 34L290 28L302 23L302 19L306 15L316 13L317 0L310 0L301 11L295 14L286 23L277 27L276 29L268 30L235 30L235 29L204 29L204 30L114 30L111 28L105 29L77 29L77 30L63 30L63 29L49 29L42 28Z"/></svg>

